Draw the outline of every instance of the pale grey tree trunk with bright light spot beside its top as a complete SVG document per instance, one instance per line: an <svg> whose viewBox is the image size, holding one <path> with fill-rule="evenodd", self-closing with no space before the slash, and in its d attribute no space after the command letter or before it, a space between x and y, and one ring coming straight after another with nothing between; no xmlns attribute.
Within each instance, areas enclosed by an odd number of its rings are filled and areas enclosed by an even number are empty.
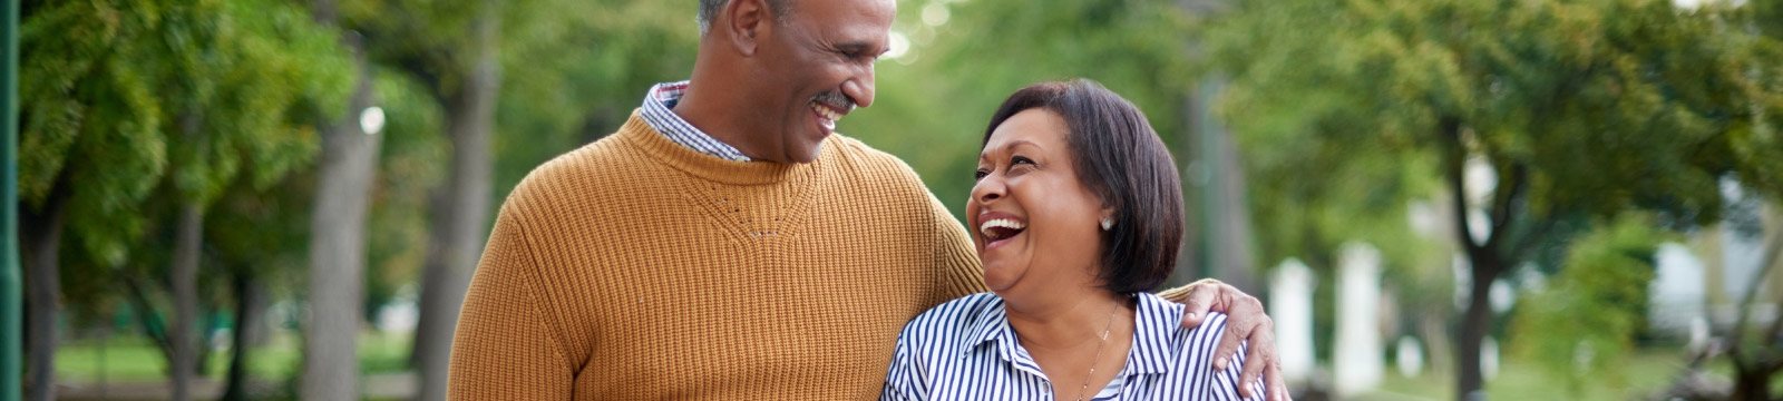
<svg viewBox="0 0 1783 401"><path fill-rule="evenodd" d="M358 112L371 107L373 77L357 36L348 46L358 86L348 112L323 135L323 159L310 216L310 321L303 346L303 399L358 397L358 328L366 298L366 210L378 173L382 135L366 134Z"/></svg>

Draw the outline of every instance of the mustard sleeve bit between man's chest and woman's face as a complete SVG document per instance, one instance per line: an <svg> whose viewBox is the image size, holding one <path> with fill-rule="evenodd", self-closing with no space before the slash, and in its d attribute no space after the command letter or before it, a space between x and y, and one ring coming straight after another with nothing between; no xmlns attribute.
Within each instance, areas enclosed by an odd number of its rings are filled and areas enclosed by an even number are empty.
<svg viewBox="0 0 1783 401"><path fill-rule="evenodd" d="M979 266L979 253L974 250L966 226L961 226L934 194L929 194L929 214L934 219L934 266L938 280L934 298L929 299L929 305L924 305L924 310L954 298L986 291L984 267Z"/></svg>

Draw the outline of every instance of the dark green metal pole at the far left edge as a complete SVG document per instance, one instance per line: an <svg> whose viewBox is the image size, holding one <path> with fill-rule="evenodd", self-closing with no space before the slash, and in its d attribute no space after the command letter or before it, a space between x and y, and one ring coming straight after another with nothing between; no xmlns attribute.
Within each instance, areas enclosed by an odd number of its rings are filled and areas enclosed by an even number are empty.
<svg viewBox="0 0 1783 401"><path fill-rule="evenodd" d="M18 0L0 0L0 401L18 401L25 351L18 264Z"/></svg>

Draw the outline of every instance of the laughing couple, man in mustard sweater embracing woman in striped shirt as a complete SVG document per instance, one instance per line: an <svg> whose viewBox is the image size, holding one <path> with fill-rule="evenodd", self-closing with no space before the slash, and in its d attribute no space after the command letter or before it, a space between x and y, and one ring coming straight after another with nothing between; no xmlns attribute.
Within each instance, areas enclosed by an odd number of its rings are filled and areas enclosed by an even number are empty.
<svg viewBox="0 0 1783 401"><path fill-rule="evenodd" d="M1286 399L1255 298L1150 294L1182 198L1118 94L1006 100L970 232L900 160L833 135L872 105L895 12L701 0L692 78L503 203L451 397Z"/></svg>

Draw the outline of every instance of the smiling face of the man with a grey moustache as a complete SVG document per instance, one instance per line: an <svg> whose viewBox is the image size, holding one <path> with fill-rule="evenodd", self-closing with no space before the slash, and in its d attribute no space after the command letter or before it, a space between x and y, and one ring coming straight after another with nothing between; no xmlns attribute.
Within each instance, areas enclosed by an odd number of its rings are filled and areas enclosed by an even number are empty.
<svg viewBox="0 0 1783 401"><path fill-rule="evenodd" d="M792 12L761 37L758 127L777 162L811 162L836 119L874 102L874 61L886 52L892 0L786 2Z"/></svg>

